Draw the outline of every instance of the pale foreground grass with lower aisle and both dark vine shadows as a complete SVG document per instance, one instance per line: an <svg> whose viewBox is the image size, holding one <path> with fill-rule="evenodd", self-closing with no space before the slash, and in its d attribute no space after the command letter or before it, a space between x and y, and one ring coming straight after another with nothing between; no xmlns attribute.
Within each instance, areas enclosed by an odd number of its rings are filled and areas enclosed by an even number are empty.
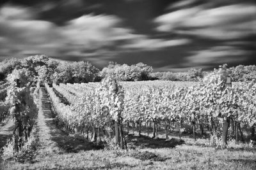
<svg viewBox="0 0 256 170"><path fill-rule="evenodd" d="M188 134L180 140L173 132L166 140L161 131L157 139L135 131L127 136L129 150L102 149L51 121L45 117L46 124L36 125L31 159L5 161L2 169L256 169L256 148L248 144L229 142L221 150Z"/></svg>

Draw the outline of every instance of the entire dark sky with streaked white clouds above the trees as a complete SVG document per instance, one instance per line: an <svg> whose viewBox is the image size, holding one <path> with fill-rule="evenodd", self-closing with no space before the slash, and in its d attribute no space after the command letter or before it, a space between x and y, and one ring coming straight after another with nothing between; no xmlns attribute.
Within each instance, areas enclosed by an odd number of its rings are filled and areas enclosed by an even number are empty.
<svg viewBox="0 0 256 170"><path fill-rule="evenodd" d="M256 3L1 0L0 60L37 54L175 72L256 64Z"/></svg>

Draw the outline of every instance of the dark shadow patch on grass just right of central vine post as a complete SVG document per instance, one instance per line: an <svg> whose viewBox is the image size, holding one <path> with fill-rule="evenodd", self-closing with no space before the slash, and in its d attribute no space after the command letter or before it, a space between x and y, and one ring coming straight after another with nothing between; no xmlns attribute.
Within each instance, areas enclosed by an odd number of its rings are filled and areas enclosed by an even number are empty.
<svg viewBox="0 0 256 170"><path fill-rule="evenodd" d="M174 148L177 145L184 144L182 139L161 139L161 138L150 138L148 136L134 136L129 134L127 136L127 145L132 147L142 148Z"/></svg>

